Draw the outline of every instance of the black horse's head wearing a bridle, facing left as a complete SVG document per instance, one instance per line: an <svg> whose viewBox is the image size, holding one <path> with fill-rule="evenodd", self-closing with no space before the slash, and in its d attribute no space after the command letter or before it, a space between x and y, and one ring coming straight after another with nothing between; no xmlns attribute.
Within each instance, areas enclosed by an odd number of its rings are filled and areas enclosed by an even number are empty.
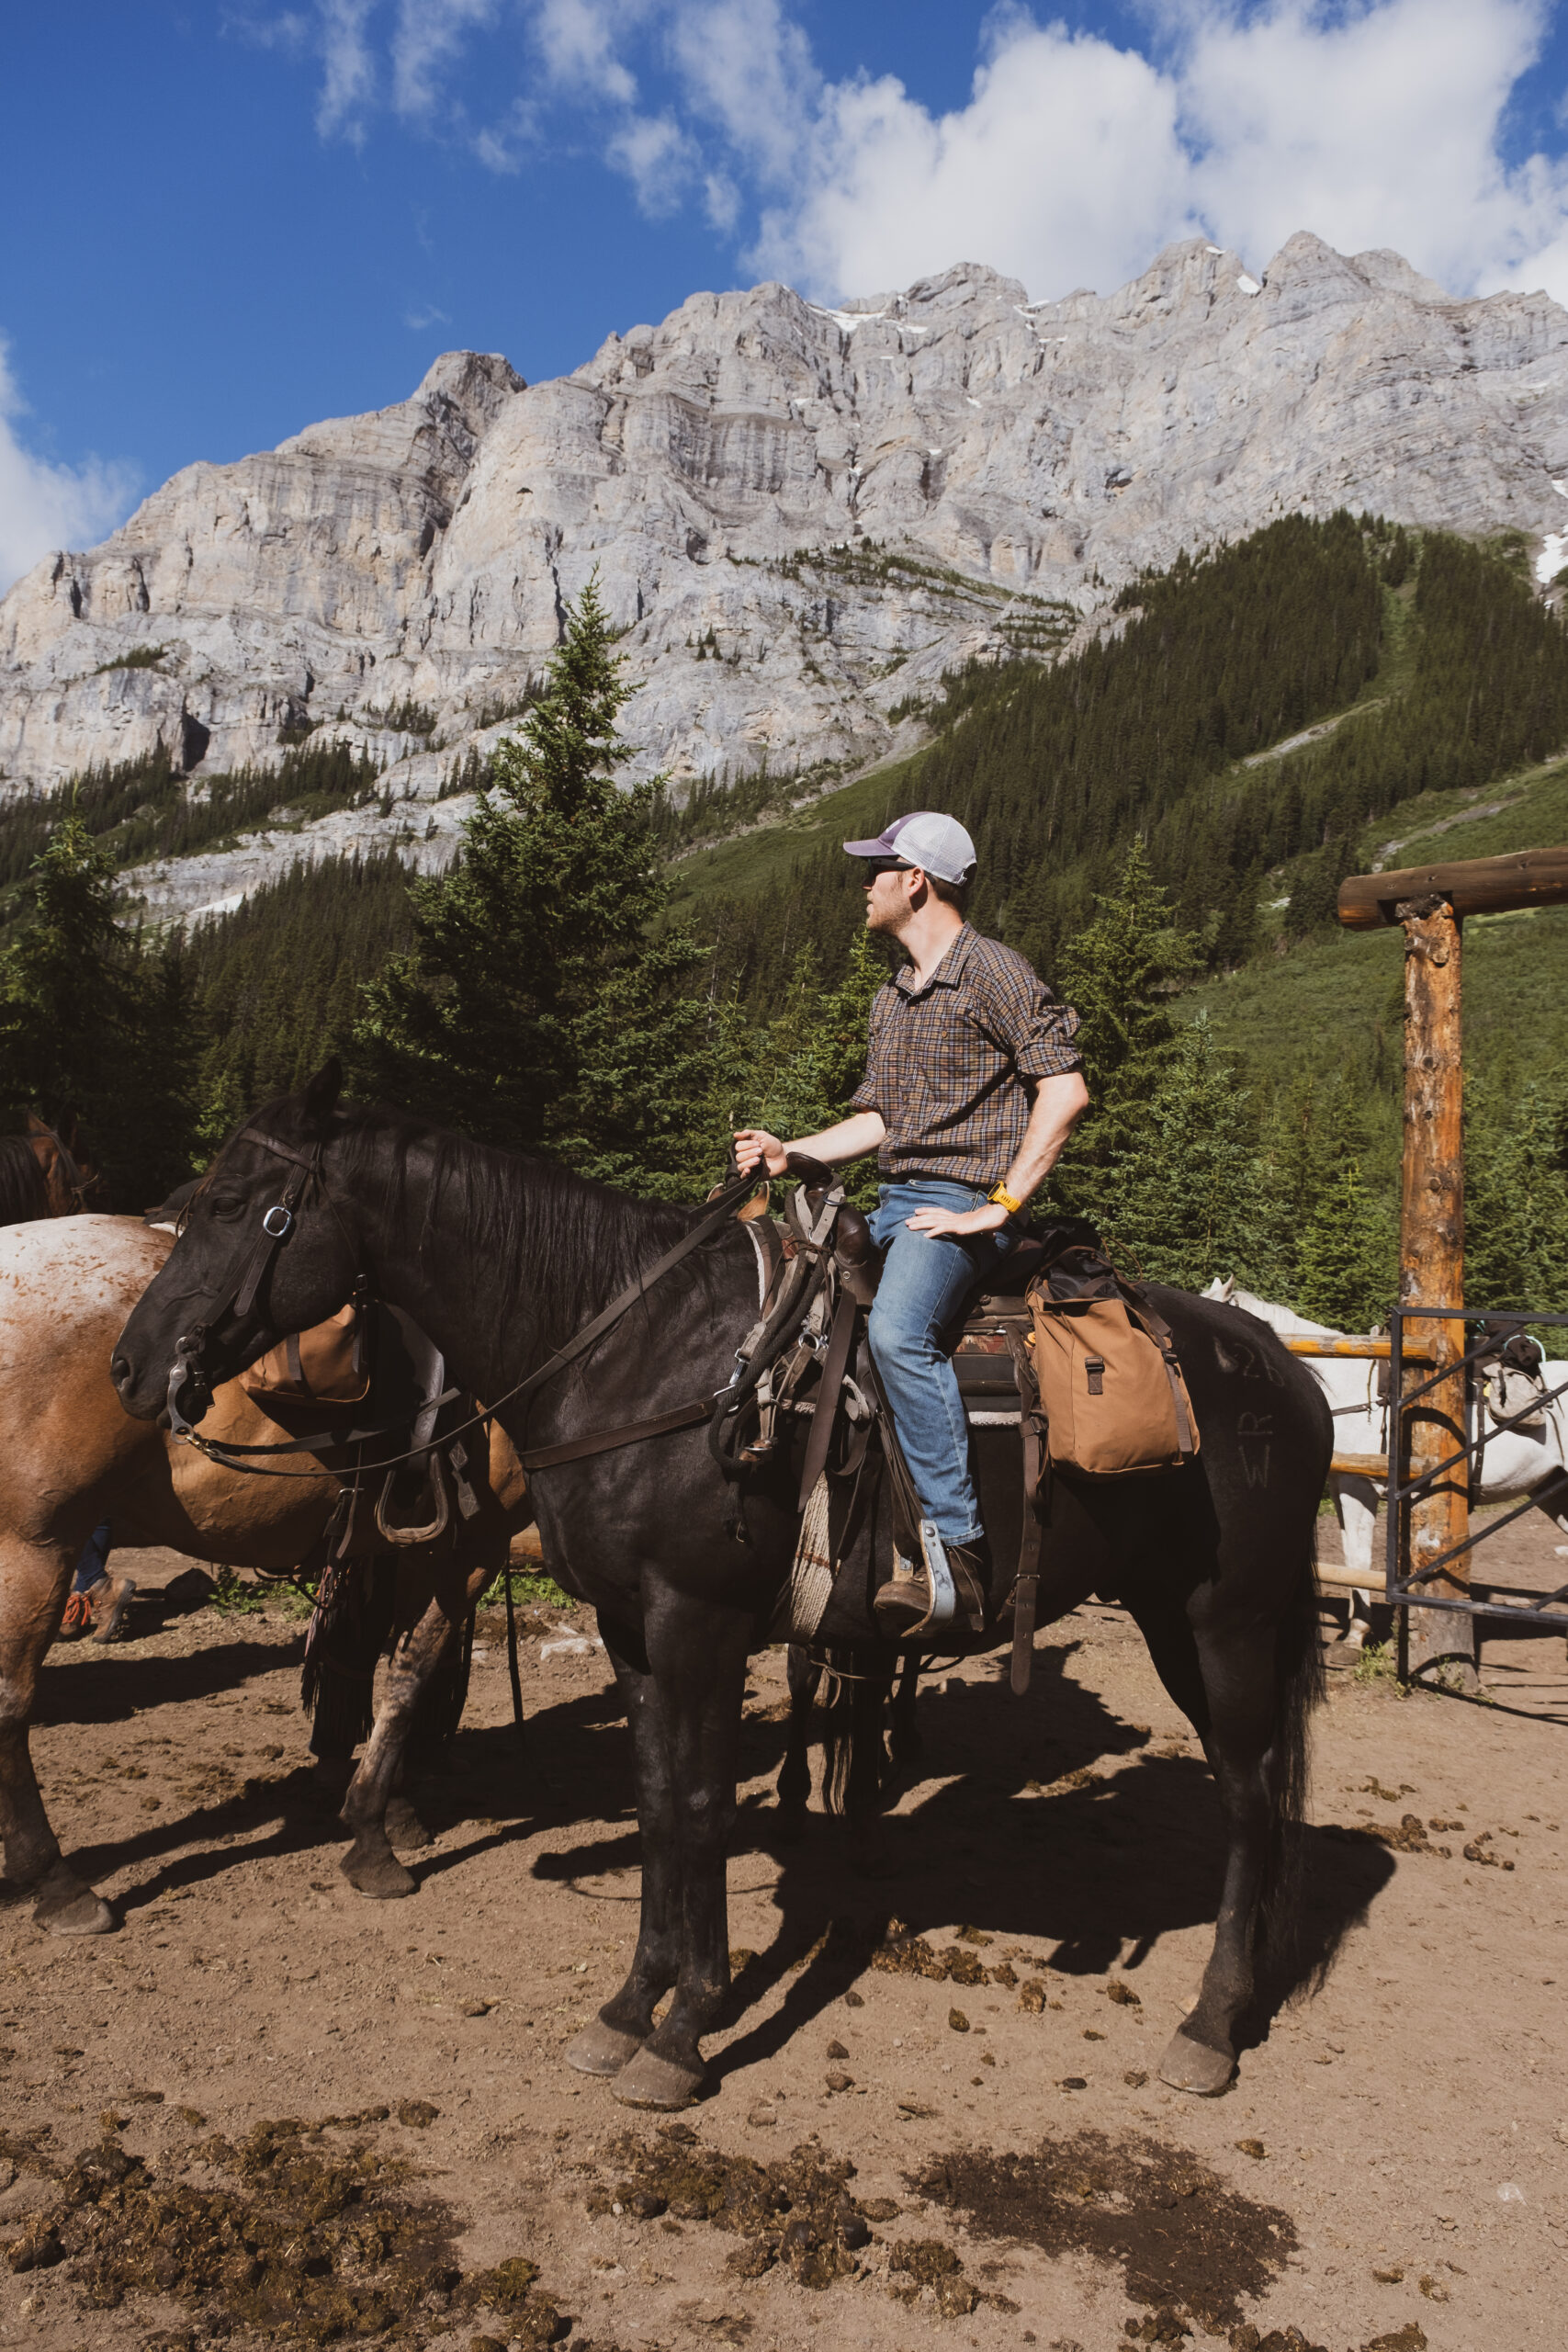
<svg viewBox="0 0 1568 2352"><path fill-rule="evenodd" d="M219 1381L350 1296L362 1240L350 1188L331 1181L341 1087L334 1056L303 1094L235 1129L186 1202L110 1357L127 1414L155 1421L167 1406L176 1430L200 1421Z"/></svg>

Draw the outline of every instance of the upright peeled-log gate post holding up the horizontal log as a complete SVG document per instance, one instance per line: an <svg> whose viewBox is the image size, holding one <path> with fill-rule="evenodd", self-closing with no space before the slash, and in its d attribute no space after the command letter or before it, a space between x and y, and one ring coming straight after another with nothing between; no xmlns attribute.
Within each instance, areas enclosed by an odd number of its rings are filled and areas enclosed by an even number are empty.
<svg viewBox="0 0 1568 2352"><path fill-rule="evenodd" d="M1406 1112L1403 1183L1399 1204L1399 1303L1465 1303L1465 1068L1460 1033L1462 917L1453 903L1427 891L1394 908L1406 934ZM1406 1341L1432 1362L1453 1364L1465 1355L1462 1322L1408 1322ZM1420 1388L1432 1364L1406 1369L1403 1388ZM1465 1446L1465 1374L1441 1381L1410 1409L1406 1421L1410 1475L1446 1461ZM1399 1463L1389 1463L1399 1475ZM1406 1512L1401 1573L1418 1573L1429 1559L1465 1543L1469 1534L1469 1463L1436 1479ZM1469 1599L1469 1552L1432 1581L1432 1592ZM1420 1675L1439 1661L1458 1661L1474 1689L1474 1618L1453 1609L1401 1611L1401 1670Z"/></svg>

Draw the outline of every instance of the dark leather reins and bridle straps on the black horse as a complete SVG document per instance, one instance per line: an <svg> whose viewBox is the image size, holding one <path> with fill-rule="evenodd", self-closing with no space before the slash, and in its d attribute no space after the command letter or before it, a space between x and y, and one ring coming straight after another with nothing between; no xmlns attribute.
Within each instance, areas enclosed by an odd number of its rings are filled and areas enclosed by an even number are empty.
<svg viewBox="0 0 1568 2352"><path fill-rule="evenodd" d="M294 1232L296 1209L299 1209L299 1202L303 1200L306 1188L310 1183L317 1185L322 1200L327 1202L327 1207L331 1209L331 1214L339 1218L339 1225L343 1228L343 1237L353 1242L353 1237L348 1235L348 1225L343 1225L343 1216L341 1216L341 1211L339 1211L339 1207L336 1207L336 1202L334 1202L334 1197L331 1197L331 1192L327 1188L327 1181L322 1176L322 1145L320 1143L315 1145L315 1150L310 1152L310 1157L306 1157L303 1152L296 1152L292 1145L277 1143L273 1136L247 1134L244 1141L247 1143L259 1143L261 1150L273 1152L277 1160L294 1162L294 1171L289 1174L289 1178L287 1178L287 1183L282 1188L282 1197L270 1209L266 1209L266 1214L261 1218L261 1235L256 1237L256 1244L254 1244L249 1258L240 1268L235 1287L228 1291L228 1296L223 1298L223 1303L214 1310L214 1317L212 1317L214 1322L221 1322L223 1315L230 1312L230 1308L233 1308L235 1315L247 1315L252 1310L252 1305L256 1303L256 1294L259 1294L263 1279L273 1270L277 1251L282 1249L282 1244ZM482 1411L470 1414L468 1421L458 1421L456 1428L444 1430L442 1432L442 1444L447 1444L451 1437L461 1437L465 1430L473 1430L473 1428L480 1428L482 1423L494 1421L496 1411L503 1404L515 1404L520 1397L531 1395L534 1390L543 1388L545 1381L555 1378L557 1371L564 1371L567 1364L574 1364L581 1355L585 1355L588 1348L592 1348L592 1343L597 1338L602 1338L604 1331L609 1331L614 1324L618 1324L621 1317L630 1308L635 1308L637 1301L642 1296L646 1296L646 1291L656 1282L661 1282L684 1258L689 1258L693 1251L698 1251L703 1247L703 1242L710 1242L715 1237L715 1232L719 1232L719 1228L729 1223L729 1218L736 1214L736 1209L741 1209L745 1204L745 1200L750 1200L750 1195L755 1190L757 1190L757 1176L755 1174L752 1176L738 1176L733 1183L729 1183L717 1195L717 1200L710 1204L708 1216L703 1216L701 1223L696 1223L691 1228L691 1232L682 1235L682 1240L675 1242L670 1249L665 1249L665 1254L661 1258L656 1258L654 1265L649 1265L632 1282L628 1282L628 1287L623 1291L618 1291L609 1301L607 1308L602 1308L590 1322L585 1322L581 1327L581 1331L574 1331L571 1338L562 1348L557 1348L555 1355L548 1357L536 1371L531 1371L527 1378L517 1381L515 1388L508 1388L505 1395L501 1395L501 1397L494 1399L494 1404L487 1404ZM212 1461L223 1463L228 1470L249 1470L249 1472L261 1475L261 1477L268 1477L268 1475L270 1477L294 1477L294 1475L310 1477L313 1472L287 1472L287 1470L266 1472L261 1463L256 1463L256 1461L235 1461L233 1456L315 1454L315 1451L320 1451L327 1444L329 1446L369 1444L369 1439L386 1437L393 1430L400 1430L400 1428L407 1425L407 1421L393 1421L393 1423L381 1423L378 1428L369 1428L369 1430L350 1430L348 1435L331 1430L331 1432L317 1432L315 1437L292 1437L292 1439L280 1439L275 1444L261 1444L261 1446L226 1444L223 1439L216 1439L216 1437L200 1437L200 1432L195 1430L195 1425L188 1423L183 1418L183 1414L179 1411L176 1397L179 1397L179 1390L183 1388L183 1383L188 1378L202 1378L200 1367L193 1362L193 1357L197 1357L200 1350L205 1348L207 1334L209 1334L209 1324L193 1324L190 1334L181 1336L174 1343L174 1364L169 1369L169 1428L172 1428L174 1437L181 1437L181 1439L186 1439L186 1444L197 1446L202 1454L207 1454ZM729 1390L722 1388L722 1390L715 1390L715 1392L710 1392L705 1397L693 1397L689 1404L677 1404L672 1411L654 1414L654 1416L649 1416L644 1421L625 1421L625 1423L616 1425L614 1430L592 1430L585 1437L569 1437L569 1439L564 1439L562 1444L555 1444L555 1446L534 1446L529 1451L520 1451L517 1461L520 1461L520 1465L524 1470L550 1470L557 1463L581 1461L581 1458L585 1458L590 1454L609 1454L616 1446L637 1444L637 1439L642 1439L642 1437L663 1437L670 1430L693 1428L698 1421L708 1421L712 1416L715 1404L726 1392ZM458 1395L461 1395L461 1390L449 1388L435 1402L437 1404L449 1404ZM400 1463L414 1461L414 1456L425 1456L428 1451L430 1451L428 1444L423 1444L423 1446L409 1446L407 1451L390 1454L383 1461L360 1463L360 1465L355 1465L355 1470L364 1470L364 1472L369 1472L369 1470L395 1470Z"/></svg>

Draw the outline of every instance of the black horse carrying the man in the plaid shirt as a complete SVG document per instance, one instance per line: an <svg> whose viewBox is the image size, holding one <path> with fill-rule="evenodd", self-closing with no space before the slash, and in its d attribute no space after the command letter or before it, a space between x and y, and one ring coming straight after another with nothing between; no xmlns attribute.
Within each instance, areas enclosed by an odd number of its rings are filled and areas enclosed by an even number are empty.
<svg viewBox="0 0 1568 2352"><path fill-rule="evenodd" d="M125 1406L153 1418L172 1392L197 1397L202 1381L233 1376L277 1334L331 1312L364 1272L430 1334L463 1388L496 1402L531 1475L545 1557L599 1611L632 1729L637 1952L569 2058L614 2074L628 2105L675 2107L703 2082L701 2037L729 1990L724 1849L745 1658L766 1637L795 1552L799 1463L764 1468L736 1503L701 1425L552 1465L527 1449L623 1432L722 1392L757 1312L757 1258L726 1225L567 1376L508 1402L691 1235L701 1211L625 1200L386 1105L339 1108L339 1084L329 1063L228 1141L120 1334L113 1378ZM1215 2093L1234 2072L1258 1926L1284 1884L1284 1832L1302 1797L1321 1677L1312 1545L1331 1418L1312 1376L1258 1324L1178 1291L1154 1296L1180 1345L1204 1451L1147 1479L1058 1475L1041 1609L1056 1616L1091 1592L1124 1602L1211 1759L1229 1839L1220 1922L1161 2074ZM978 1465L992 1538L1001 1545L1011 1526L1016 1541L1016 1439L1001 1456L978 1449ZM856 1573L870 1590L889 1569L877 1503L839 1590ZM867 1613L858 1630L870 1632ZM825 1625L825 1637L849 1639L851 1628Z"/></svg>

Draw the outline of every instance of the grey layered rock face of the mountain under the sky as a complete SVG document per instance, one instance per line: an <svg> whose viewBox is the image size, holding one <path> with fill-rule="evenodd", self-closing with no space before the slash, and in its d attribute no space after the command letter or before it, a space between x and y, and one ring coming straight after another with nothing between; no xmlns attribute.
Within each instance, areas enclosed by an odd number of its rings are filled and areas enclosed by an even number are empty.
<svg viewBox="0 0 1568 2352"><path fill-rule="evenodd" d="M1566 310L1309 235L1260 282L1187 242L1046 303L971 266L844 310L696 294L555 383L449 353L40 562L0 604L0 790L315 727L433 800L595 567L639 774L860 762L943 668L1060 644L1182 546L1335 506L1544 541L1559 477Z"/></svg>

